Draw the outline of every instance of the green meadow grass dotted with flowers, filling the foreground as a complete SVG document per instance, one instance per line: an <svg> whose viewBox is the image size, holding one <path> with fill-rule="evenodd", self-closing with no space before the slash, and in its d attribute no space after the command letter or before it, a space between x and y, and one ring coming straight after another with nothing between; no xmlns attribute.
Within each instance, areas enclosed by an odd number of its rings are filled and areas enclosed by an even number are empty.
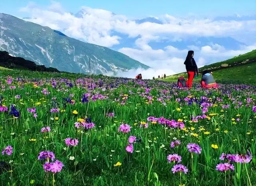
<svg viewBox="0 0 256 186"><path fill-rule="evenodd" d="M223 186L224 180L230 186L256 184L256 113L252 110L256 90L252 86L188 90L153 80L1 70L0 90L0 106L8 108L0 112L0 149L13 147L12 155L0 155L1 161L10 162L8 171L0 174L2 186ZM90 93L86 103L81 102L84 93ZM72 99L72 104L64 98ZM202 103L208 105L204 118ZM9 114L13 104L19 118ZM36 118L28 108L36 108ZM51 113L52 108L60 111ZM106 116L110 112L115 116ZM160 119L148 121L149 116ZM196 116L201 119L194 120ZM75 127L85 117L94 128ZM161 124L166 120L179 121L185 128ZM130 132L118 132L121 124L130 125ZM42 133L46 126L51 131ZM133 153L126 152L131 135L137 138ZM78 139L78 145L67 146L68 137ZM181 144L170 148L174 140ZM198 144L202 152L192 158L188 143ZM60 172L44 171L46 160L38 160L38 154L45 150L63 162ZM253 158L248 164L232 162L234 171L216 171L217 164L226 162L219 159L222 152L246 154L247 150ZM173 174L177 162L168 163L168 154L182 156L180 163L188 173ZM121 165L114 166L117 162Z"/></svg>

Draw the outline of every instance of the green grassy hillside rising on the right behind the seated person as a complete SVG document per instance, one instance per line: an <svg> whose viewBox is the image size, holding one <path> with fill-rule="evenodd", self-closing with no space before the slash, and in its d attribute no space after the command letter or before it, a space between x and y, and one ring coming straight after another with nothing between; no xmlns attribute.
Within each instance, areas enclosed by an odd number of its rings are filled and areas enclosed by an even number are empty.
<svg viewBox="0 0 256 186"><path fill-rule="evenodd" d="M214 79L218 83L256 85L256 50L235 56L229 60L203 66L202 68L199 68L199 73L203 70L212 71ZM164 81L176 82L178 77L181 76L184 76L185 78L188 77L187 73L183 72L167 76ZM195 80L196 82L200 82L200 75Z"/></svg>

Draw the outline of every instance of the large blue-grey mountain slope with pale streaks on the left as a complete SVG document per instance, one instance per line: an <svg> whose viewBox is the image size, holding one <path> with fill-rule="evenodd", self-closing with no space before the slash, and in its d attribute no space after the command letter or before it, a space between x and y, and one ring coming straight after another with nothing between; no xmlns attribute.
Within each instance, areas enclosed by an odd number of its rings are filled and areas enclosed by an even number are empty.
<svg viewBox="0 0 256 186"><path fill-rule="evenodd" d="M120 52L69 38L58 30L1 13L0 50L66 72L117 74L149 68Z"/></svg>

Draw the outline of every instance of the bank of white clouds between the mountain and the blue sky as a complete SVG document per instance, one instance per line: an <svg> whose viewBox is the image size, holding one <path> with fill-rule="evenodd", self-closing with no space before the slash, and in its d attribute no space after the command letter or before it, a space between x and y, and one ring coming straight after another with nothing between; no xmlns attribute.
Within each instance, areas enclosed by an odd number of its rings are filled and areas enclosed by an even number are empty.
<svg viewBox="0 0 256 186"><path fill-rule="evenodd" d="M244 54L256 48L256 20L242 21L213 21L200 19L195 16L190 18L176 18L165 14L159 16L164 24L144 22L136 24L124 15L116 15L108 10L82 7L76 15L65 12L61 4L52 1L52 4L42 9L35 3L29 3L21 11L31 14L32 19L26 19L52 29L60 30L64 34L85 42L112 47L120 44L122 38L113 32L127 34L136 39L136 48L123 47L122 52L152 68L148 70L133 69L118 76L135 77L143 72L143 77L152 78L166 73L166 75L183 72L184 58L188 50L195 51L198 66L210 64ZM254 36L255 35L255 36ZM192 40L194 37L231 37L250 46L241 46L240 50L226 50L219 44L212 43L198 47L187 46L187 50L179 50L174 46L165 46L161 49L152 49L150 42L161 42L168 39L172 42ZM111 75L111 74L110 74Z"/></svg>

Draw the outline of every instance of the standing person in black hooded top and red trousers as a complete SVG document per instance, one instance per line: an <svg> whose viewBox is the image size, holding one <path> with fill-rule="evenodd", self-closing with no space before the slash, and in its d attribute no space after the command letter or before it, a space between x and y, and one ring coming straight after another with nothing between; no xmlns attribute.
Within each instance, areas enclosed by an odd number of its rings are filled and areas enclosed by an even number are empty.
<svg viewBox="0 0 256 186"><path fill-rule="evenodd" d="M186 65L186 70L188 72L188 80L187 80L188 88L192 87L192 82L193 82L194 77L198 76L198 68L197 68L197 65L196 65L196 62L195 62L193 56L194 56L194 51L189 50L186 60L184 62L184 64Z"/></svg>

